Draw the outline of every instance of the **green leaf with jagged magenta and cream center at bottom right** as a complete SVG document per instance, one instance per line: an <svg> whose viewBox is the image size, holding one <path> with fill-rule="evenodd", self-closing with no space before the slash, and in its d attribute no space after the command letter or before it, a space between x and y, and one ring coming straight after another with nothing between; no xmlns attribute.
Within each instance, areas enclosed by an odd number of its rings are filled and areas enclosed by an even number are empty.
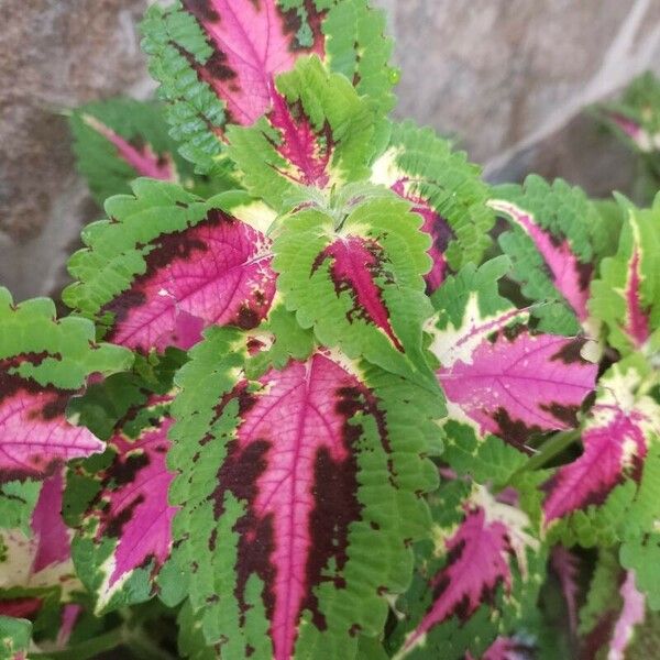
<svg viewBox="0 0 660 660"><path fill-rule="evenodd" d="M432 541L419 543L415 580L395 605L393 657L486 657L538 596L538 529L512 488L495 497L463 481L443 483L432 513Z"/></svg>

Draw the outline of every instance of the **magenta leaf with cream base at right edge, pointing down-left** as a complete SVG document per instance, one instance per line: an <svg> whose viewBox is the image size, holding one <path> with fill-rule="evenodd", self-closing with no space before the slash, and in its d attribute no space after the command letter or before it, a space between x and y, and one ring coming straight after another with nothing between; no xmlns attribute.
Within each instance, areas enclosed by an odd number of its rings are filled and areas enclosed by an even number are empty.
<svg viewBox="0 0 660 660"><path fill-rule="evenodd" d="M603 504L628 479L638 482L649 440L660 433L659 419L660 406L647 394L642 375L635 366L614 366L601 380L586 420L584 452L546 484L546 522Z"/></svg>

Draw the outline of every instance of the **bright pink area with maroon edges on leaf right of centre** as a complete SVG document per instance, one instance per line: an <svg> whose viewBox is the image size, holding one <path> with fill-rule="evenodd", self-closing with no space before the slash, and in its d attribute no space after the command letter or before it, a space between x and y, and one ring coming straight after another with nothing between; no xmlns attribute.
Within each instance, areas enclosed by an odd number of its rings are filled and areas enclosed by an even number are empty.
<svg viewBox="0 0 660 660"><path fill-rule="evenodd" d="M481 328L472 328L453 348L470 343L473 333L477 343L471 352L443 346L437 353L450 356L437 375L448 399L482 432L522 447L531 432L576 426L576 413L597 373L597 365L580 355L585 340L535 336L520 326L484 337Z"/></svg>

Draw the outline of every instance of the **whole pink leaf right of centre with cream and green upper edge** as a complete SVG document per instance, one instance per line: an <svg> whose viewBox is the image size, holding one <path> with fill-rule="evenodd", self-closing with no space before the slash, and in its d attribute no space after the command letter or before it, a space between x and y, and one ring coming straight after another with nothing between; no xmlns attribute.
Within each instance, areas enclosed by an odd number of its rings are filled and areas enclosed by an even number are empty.
<svg viewBox="0 0 660 660"><path fill-rule="evenodd" d="M528 309L497 292L509 262L466 266L433 296L430 350L450 416L524 449L532 433L578 426L597 365L583 358L583 338L538 333Z"/></svg>

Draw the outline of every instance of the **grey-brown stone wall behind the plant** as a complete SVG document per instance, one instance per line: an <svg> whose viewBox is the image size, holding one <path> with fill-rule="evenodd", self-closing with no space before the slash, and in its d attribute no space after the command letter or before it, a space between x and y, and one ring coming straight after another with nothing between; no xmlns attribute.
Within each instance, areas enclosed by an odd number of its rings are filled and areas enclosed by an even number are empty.
<svg viewBox="0 0 660 660"><path fill-rule="evenodd" d="M0 0L0 283L51 294L84 222L63 112L153 86L136 23L147 0ZM397 113L454 136L491 180L563 176L628 189L630 156L581 113L660 73L660 0L376 0L402 67Z"/></svg>

